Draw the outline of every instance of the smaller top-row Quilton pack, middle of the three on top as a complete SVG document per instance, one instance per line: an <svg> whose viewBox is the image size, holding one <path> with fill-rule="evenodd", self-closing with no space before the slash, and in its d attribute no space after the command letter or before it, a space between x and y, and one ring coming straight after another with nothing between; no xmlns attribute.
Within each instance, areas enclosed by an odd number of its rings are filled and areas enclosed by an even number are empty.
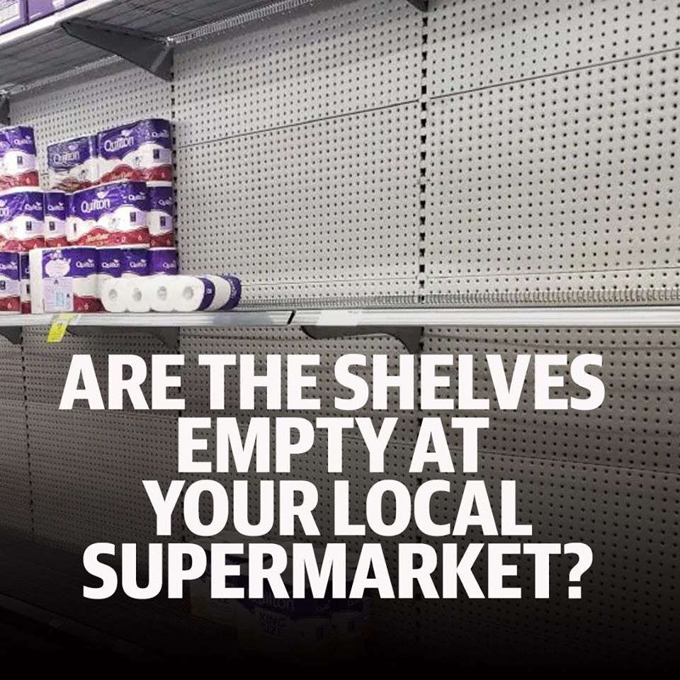
<svg viewBox="0 0 680 680"><path fill-rule="evenodd" d="M47 147L50 189L80 191L99 181L97 137L78 137Z"/></svg>

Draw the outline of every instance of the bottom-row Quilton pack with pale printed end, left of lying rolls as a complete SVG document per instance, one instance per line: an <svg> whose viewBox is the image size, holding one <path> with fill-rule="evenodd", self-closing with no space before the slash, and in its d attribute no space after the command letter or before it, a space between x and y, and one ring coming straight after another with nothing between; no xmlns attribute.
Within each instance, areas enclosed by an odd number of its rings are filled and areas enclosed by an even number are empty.
<svg viewBox="0 0 680 680"><path fill-rule="evenodd" d="M30 251L30 299L34 314L101 312L96 248Z"/></svg>

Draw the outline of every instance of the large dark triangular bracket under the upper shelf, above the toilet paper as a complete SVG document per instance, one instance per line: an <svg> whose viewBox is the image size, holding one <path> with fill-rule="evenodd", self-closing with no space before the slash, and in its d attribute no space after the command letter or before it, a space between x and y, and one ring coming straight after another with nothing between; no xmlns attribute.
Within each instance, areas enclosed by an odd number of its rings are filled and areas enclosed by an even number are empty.
<svg viewBox="0 0 680 680"><path fill-rule="evenodd" d="M74 18L62 21L68 35L118 55L163 80L172 80L172 45L153 33Z"/></svg>

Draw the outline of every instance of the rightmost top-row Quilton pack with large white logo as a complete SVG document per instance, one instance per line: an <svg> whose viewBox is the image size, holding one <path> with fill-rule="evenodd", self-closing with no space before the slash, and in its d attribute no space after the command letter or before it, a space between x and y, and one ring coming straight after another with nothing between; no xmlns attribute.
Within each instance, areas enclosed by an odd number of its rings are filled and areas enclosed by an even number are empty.
<svg viewBox="0 0 680 680"><path fill-rule="evenodd" d="M172 181L172 129L167 120L139 120L100 132L98 149L103 183Z"/></svg>

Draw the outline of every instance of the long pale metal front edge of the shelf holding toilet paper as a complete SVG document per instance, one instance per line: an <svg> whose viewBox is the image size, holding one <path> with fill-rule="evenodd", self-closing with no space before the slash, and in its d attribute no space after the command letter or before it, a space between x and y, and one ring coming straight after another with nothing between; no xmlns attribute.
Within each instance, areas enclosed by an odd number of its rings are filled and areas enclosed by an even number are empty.
<svg viewBox="0 0 680 680"><path fill-rule="evenodd" d="M5 314L0 328L44 327L53 314ZM74 327L680 327L680 306L662 307L489 307L356 310L239 310L188 314L77 314Z"/></svg>

